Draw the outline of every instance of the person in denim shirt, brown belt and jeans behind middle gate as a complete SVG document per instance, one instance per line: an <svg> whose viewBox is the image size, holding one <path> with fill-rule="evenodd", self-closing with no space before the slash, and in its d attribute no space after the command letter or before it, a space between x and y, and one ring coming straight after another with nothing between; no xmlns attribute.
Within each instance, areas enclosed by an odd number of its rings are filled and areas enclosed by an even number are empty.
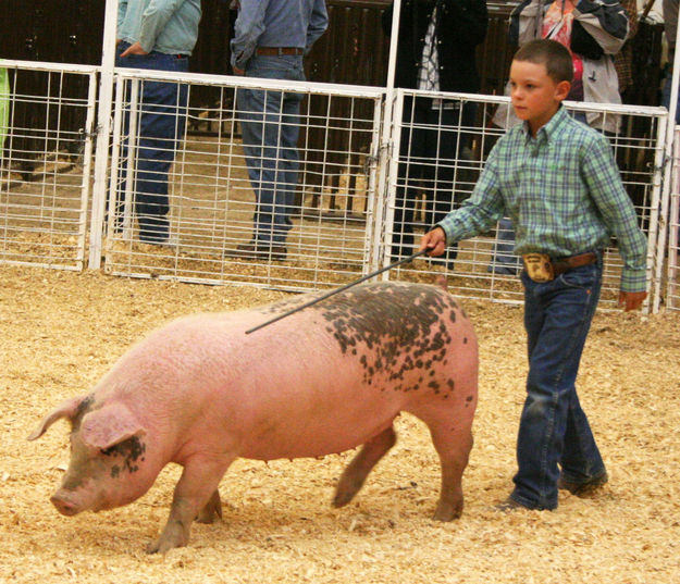
<svg viewBox="0 0 680 584"><path fill-rule="evenodd" d="M324 0L240 0L231 41L234 74L305 80L302 59L329 24ZM252 237L225 254L284 260L297 188L302 94L242 88L236 95L248 177Z"/></svg>

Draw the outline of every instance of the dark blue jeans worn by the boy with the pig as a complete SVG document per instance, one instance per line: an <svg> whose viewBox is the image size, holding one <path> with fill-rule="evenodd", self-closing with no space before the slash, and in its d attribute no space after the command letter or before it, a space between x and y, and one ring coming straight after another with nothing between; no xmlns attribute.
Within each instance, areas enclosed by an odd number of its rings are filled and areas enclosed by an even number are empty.
<svg viewBox="0 0 680 584"><path fill-rule="evenodd" d="M533 282L526 271L521 278L529 376L517 438L519 470L510 498L530 509L555 509L559 467L562 477L577 484L605 470L576 390L599 299L602 257L552 282Z"/></svg>

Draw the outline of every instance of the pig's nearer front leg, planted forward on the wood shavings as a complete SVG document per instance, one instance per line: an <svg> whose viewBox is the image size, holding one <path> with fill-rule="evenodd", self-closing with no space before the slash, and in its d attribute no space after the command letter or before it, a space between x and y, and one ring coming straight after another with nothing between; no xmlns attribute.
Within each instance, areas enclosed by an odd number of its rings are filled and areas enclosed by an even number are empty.
<svg viewBox="0 0 680 584"><path fill-rule="evenodd" d="M220 480L233 460L193 457L187 461L175 487L168 523L160 537L147 546L148 554L165 554L187 545L191 522L202 510L213 506Z"/></svg>

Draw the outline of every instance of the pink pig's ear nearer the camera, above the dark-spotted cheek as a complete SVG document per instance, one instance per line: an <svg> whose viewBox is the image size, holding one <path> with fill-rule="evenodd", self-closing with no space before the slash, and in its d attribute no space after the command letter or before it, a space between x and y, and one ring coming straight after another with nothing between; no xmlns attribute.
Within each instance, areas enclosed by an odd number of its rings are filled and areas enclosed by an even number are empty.
<svg viewBox="0 0 680 584"><path fill-rule="evenodd" d="M146 430L122 403L109 403L83 418L81 438L90 448L104 450L133 436L144 436Z"/></svg>

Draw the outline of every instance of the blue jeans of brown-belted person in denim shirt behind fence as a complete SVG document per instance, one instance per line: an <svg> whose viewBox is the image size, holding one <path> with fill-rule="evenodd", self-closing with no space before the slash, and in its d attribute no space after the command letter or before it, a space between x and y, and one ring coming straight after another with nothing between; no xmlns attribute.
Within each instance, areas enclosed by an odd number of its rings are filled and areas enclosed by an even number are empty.
<svg viewBox="0 0 680 584"><path fill-rule="evenodd" d="M305 80L301 55L254 55L246 76ZM302 94L239 89L238 119L257 208L252 239L284 245L293 228L297 188L299 110Z"/></svg>

